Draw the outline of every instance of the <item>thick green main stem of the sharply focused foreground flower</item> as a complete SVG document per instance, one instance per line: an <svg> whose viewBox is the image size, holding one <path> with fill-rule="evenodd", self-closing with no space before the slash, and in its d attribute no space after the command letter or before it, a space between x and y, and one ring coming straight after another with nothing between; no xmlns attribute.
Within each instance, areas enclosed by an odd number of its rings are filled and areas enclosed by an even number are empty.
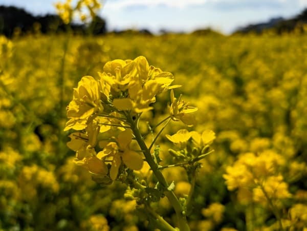
<svg viewBox="0 0 307 231"><path fill-rule="evenodd" d="M149 164L153 174L155 174L156 178L158 179L159 183L165 188L165 196L168 198L169 202L171 203L171 205L173 206L176 215L177 215L177 219L178 219L178 224L179 224L179 229L181 231L189 231L190 228L188 226L186 217L184 215L184 209L182 208L178 198L176 197L176 195L172 192L168 190L168 183L166 181L166 179L164 178L162 172L159 170L158 164L155 162L155 160L153 160L149 149L147 148L147 145L145 144L143 137L140 133L140 130L137 127L137 121L135 122L132 118L130 114L126 114L127 117L127 121L128 123L130 123L131 125L131 130L133 131L136 140L141 148L141 150L144 150L144 156L145 159L147 161L147 163Z"/></svg>

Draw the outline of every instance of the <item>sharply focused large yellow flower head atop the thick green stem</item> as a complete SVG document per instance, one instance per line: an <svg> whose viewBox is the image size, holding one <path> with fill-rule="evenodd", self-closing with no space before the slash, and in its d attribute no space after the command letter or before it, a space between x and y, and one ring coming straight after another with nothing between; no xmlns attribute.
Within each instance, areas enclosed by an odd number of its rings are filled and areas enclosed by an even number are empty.
<svg viewBox="0 0 307 231"><path fill-rule="evenodd" d="M69 121L64 129L78 131L70 135L68 142L76 152L76 163L111 180L117 178L123 164L140 170L143 166L140 148L130 147L134 139L131 121L152 110L157 95L179 87L171 86L172 81L171 73L149 66L143 56L107 62L98 79L82 77L67 107ZM177 109L170 116L181 118L196 111L180 100L178 107L173 92L171 95L170 107ZM109 169L107 163L111 163Z"/></svg>

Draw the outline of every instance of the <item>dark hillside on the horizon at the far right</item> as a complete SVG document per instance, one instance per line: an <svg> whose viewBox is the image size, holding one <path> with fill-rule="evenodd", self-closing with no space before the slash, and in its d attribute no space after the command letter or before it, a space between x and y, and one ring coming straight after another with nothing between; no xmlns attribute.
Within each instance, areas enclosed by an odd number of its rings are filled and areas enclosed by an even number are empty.
<svg viewBox="0 0 307 231"><path fill-rule="evenodd" d="M259 24L250 24L246 27L240 27L234 33L262 33L265 30L272 29L276 33L281 34L284 32L291 32L301 24L307 23L307 8L302 11L299 15L290 18L284 19L282 17L272 18L269 22L259 23Z"/></svg>

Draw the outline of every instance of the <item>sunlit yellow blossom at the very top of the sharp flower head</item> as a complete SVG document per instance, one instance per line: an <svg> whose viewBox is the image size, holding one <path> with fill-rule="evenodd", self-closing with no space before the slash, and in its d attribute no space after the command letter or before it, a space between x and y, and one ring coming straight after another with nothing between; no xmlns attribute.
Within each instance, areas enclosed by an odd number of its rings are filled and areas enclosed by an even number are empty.
<svg viewBox="0 0 307 231"><path fill-rule="evenodd" d="M118 110L133 110L142 113L153 109L150 103L156 101L156 95L178 86L170 86L173 75L148 65L145 57L135 60L116 59L107 62L99 73L101 78L114 91L113 105ZM128 90L128 94L126 93ZM122 93L120 93L122 92Z"/></svg>

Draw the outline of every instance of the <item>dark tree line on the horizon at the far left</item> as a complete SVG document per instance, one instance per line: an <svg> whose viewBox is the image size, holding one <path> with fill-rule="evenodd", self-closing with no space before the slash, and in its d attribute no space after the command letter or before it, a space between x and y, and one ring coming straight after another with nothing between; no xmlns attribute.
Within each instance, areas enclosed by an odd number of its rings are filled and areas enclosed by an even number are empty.
<svg viewBox="0 0 307 231"><path fill-rule="evenodd" d="M47 14L43 16L33 16L24 9L17 7L0 6L0 34L11 37L16 28L19 28L22 34L32 32L38 29L41 33L48 32L65 32L67 26L58 15ZM38 27L37 27L38 25ZM82 24L70 25L74 33L86 33L86 27ZM106 32L105 20L97 16L94 22L89 26L92 27L94 34L102 34Z"/></svg>

